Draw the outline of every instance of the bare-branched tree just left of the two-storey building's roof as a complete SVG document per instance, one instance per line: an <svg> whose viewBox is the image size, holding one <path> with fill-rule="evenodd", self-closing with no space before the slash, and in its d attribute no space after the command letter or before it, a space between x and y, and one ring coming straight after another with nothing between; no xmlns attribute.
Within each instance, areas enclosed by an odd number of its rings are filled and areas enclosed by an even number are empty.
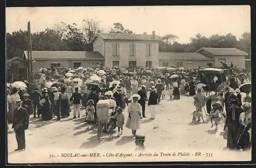
<svg viewBox="0 0 256 168"><path fill-rule="evenodd" d="M89 43L91 42L91 40L93 39L97 31L103 32L104 29L101 27L99 21L96 21L93 19L83 19L82 24L83 24L82 30L85 35L84 38L86 39L86 42L89 45L89 50L92 50L93 45Z"/></svg>

